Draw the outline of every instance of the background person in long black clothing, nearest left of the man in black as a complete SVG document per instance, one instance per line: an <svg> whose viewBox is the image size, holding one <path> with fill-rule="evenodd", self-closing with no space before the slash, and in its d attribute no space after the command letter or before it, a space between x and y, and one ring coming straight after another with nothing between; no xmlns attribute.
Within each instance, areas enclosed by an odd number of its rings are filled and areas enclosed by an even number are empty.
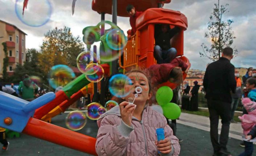
<svg viewBox="0 0 256 156"><path fill-rule="evenodd" d="M190 99L190 110L198 111L198 90L200 85L198 85L198 81L194 81L194 87L191 89L191 99Z"/></svg>

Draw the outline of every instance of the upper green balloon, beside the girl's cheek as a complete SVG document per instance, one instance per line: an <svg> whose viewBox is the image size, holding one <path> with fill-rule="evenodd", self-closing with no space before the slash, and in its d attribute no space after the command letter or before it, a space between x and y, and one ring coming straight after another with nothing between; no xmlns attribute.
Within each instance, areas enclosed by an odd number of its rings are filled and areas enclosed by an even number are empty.
<svg viewBox="0 0 256 156"><path fill-rule="evenodd" d="M173 90L170 87L162 86L156 92L156 101L158 105L169 103L173 98Z"/></svg>

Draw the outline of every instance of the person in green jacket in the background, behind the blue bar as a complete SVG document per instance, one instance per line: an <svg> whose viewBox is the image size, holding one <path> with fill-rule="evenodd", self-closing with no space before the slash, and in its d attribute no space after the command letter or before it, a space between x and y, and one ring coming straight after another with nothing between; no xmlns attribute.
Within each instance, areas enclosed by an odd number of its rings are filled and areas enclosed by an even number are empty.
<svg viewBox="0 0 256 156"><path fill-rule="evenodd" d="M20 81L18 91L22 99L32 101L34 100L34 95L37 94L38 86L29 79L29 75L25 75L24 78L23 81Z"/></svg>

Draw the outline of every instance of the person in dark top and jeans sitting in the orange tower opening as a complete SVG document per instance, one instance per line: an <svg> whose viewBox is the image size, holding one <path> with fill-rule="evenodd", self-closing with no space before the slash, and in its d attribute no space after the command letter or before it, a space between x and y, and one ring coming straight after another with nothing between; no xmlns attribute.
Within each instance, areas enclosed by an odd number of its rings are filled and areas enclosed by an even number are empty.
<svg viewBox="0 0 256 156"><path fill-rule="evenodd" d="M154 38L156 46L154 47L154 58L158 64L170 63L176 57L177 50L171 48L170 39L180 31L179 27L170 29L169 25L155 25Z"/></svg>

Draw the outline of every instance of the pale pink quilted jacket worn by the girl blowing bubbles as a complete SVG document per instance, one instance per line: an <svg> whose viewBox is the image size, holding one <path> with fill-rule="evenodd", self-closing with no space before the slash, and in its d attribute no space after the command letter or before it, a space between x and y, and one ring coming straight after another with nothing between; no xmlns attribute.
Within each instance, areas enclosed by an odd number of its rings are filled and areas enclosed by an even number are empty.
<svg viewBox="0 0 256 156"><path fill-rule="evenodd" d="M166 118L150 106L145 106L141 121L133 117L132 127L121 120L119 106L102 114L97 123L96 152L99 156L156 156L157 128L164 128L165 138L172 142L172 152L166 156L179 155L178 139L167 125Z"/></svg>

